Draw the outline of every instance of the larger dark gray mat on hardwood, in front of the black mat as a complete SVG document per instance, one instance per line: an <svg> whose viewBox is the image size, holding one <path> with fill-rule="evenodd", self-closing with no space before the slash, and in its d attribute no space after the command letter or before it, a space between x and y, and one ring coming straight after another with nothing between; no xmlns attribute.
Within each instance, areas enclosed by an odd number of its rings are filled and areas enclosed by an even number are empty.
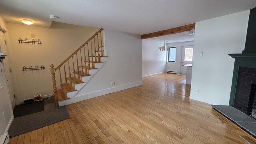
<svg viewBox="0 0 256 144"><path fill-rule="evenodd" d="M10 137L18 136L62 120L70 118L66 106L61 106L51 110L45 110L26 116L14 118L8 134Z"/></svg>

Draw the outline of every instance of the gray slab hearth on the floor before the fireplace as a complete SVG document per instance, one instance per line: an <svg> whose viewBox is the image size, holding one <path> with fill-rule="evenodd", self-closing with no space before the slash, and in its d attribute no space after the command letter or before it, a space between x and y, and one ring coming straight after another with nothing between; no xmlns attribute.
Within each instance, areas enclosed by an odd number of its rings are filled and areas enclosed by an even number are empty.
<svg viewBox="0 0 256 144"><path fill-rule="evenodd" d="M256 138L256 120L231 106L212 105L212 108Z"/></svg>

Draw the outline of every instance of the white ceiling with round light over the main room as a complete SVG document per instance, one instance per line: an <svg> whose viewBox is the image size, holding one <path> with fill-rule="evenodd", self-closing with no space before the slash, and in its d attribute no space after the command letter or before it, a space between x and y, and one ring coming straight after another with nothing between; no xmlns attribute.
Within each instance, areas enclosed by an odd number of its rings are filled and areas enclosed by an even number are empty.
<svg viewBox="0 0 256 144"><path fill-rule="evenodd" d="M0 16L49 28L56 15L56 22L146 34L254 7L256 0L0 0Z"/></svg>

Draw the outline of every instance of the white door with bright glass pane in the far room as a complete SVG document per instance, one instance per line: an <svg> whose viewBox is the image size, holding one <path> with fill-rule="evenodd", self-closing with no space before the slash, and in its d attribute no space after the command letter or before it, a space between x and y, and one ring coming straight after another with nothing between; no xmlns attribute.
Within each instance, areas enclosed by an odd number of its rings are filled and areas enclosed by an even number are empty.
<svg viewBox="0 0 256 144"><path fill-rule="evenodd" d="M193 47L194 46L182 46L180 74L187 73L187 67L183 65L192 64Z"/></svg>

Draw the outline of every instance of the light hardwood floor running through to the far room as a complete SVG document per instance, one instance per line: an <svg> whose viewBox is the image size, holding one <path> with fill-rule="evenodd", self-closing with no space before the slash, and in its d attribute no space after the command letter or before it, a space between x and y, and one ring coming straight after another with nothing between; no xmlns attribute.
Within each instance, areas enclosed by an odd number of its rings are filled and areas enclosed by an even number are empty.
<svg viewBox="0 0 256 144"><path fill-rule="evenodd" d="M11 138L10 144L246 144L256 140L190 100L184 76L160 74L143 85L67 106L71 119Z"/></svg>

